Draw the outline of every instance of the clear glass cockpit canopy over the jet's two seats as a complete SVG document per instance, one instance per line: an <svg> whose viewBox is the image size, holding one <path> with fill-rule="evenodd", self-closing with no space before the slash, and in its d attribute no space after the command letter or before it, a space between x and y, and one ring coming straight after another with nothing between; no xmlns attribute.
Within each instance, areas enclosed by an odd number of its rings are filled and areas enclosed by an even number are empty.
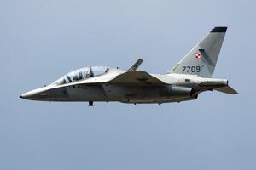
<svg viewBox="0 0 256 170"><path fill-rule="evenodd" d="M59 78L52 84L61 85L61 84L66 84L66 83L70 83L70 82L77 82L77 81L84 80L89 77L101 76L101 75L107 73L108 70L109 70L108 67L104 67L104 66L85 67L85 68L67 73L67 75Z"/></svg>

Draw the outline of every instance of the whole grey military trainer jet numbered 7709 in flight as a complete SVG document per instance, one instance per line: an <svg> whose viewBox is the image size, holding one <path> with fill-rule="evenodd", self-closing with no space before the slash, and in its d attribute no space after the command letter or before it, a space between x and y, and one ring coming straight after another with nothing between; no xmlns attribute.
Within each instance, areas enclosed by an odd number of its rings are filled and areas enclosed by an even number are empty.
<svg viewBox="0 0 256 170"><path fill-rule="evenodd" d="M238 94L228 80L212 78L227 27L215 27L166 74L137 71L143 59L128 70L90 66L71 71L57 81L20 95L40 101L119 101L167 103L197 99L198 94L217 90Z"/></svg>

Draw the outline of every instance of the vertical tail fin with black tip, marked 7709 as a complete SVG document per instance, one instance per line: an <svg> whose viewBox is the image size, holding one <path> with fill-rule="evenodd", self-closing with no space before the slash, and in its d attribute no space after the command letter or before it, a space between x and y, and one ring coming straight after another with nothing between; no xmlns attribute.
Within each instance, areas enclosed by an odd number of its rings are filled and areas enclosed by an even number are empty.
<svg viewBox="0 0 256 170"><path fill-rule="evenodd" d="M171 73L212 77L227 27L215 27L175 65Z"/></svg>

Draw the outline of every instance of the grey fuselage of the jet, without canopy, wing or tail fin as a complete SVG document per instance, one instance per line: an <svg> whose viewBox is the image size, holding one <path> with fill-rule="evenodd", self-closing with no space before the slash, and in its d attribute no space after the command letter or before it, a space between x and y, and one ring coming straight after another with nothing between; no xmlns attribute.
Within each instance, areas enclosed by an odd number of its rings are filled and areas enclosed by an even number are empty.
<svg viewBox="0 0 256 170"><path fill-rule="evenodd" d="M151 74L165 82L164 86L135 86L129 83L111 83L109 80L118 77L125 71L108 69L102 75L83 80L57 84L52 83L22 94L24 99L39 101L119 101L124 103L166 103L196 99L201 82L218 82L226 85L224 79L202 78L194 75ZM201 91L200 91L201 92Z"/></svg>

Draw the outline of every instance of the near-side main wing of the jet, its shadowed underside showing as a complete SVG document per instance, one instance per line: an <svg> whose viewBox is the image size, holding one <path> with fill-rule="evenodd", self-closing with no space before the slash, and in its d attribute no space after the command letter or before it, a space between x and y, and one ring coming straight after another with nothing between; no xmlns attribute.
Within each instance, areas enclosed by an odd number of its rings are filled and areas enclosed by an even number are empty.
<svg viewBox="0 0 256 170"><path fill-rule="evenodd" d="M109 81L110 83L122 83L134 86L160 86L166 84L160 79L151 76L146 71L127 71Z"/></svg>

